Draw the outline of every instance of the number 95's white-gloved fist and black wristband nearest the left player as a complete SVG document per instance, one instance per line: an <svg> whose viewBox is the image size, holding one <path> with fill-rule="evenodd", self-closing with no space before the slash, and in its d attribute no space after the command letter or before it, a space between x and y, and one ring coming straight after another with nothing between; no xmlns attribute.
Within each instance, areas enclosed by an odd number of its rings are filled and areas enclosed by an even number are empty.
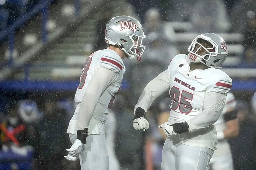
<svg viewBox="0 0 256 170"><path fill-rule="evenodd" d="M144 131L149 128L149 122L145 119L146 112L141 107L138 107L133 117L133 127L136 130L143 129Z"/></svg>

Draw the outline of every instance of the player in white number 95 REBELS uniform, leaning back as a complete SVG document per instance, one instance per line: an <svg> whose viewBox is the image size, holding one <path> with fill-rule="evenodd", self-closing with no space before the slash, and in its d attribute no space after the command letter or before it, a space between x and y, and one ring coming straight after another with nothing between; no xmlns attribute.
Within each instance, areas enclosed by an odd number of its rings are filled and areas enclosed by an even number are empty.
<svg viewBox="0 0 256 170"><path fill-rule="evenodd" d="M227 45L214 33L198 35L188 55L175 56L168 69L144 88L134 108L133 127L149 128L146 112L155 98L169 91L171 111L160 125L167 139L162 151L162 170L206 170L217 147L215 126L232 79L220 71Z"/></svg>

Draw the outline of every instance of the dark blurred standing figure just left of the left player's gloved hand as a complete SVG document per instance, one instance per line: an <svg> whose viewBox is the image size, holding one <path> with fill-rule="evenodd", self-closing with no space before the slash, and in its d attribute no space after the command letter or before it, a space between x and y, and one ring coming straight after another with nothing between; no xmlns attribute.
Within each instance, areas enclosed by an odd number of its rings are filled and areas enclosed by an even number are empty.
<svg viewBox="0 0 256 170"><path fill-rule="evenodd" d="M66 154L66 148L69 147L66 124L70 119L70 115L66 110L59 109L56 99L51 96L45 99L43 111L45 116L41 121L42 137L40 159L37 162L38 169L67 169L70 164L64 156Z"/></svg>

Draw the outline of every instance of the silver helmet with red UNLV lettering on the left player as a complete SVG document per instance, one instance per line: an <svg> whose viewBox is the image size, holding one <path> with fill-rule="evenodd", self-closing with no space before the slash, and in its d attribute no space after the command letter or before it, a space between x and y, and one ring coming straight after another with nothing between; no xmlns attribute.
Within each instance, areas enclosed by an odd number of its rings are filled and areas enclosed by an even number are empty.
<svg viewBox="0 0 256 170"><path fill-rule="evenodd" d="M142 45L144 35L141 23L130 16L116 16L107 22L105 41L117 45L130 59L140 60L145 46Z"/></svg>

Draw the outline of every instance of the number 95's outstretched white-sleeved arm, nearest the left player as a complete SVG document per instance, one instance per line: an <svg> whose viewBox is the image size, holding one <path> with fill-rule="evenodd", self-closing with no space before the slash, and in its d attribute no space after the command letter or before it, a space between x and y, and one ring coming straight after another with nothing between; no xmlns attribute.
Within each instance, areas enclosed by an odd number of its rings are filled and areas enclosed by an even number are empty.
<svg viewBox="0 0 256 170"><path fill-rule="evenodd" d="M134 113L138 107L141 107L147 112L153 101L169 90L169 80L170 78L167 74L167 70L151 80L141 93L138 103L134 107Z"/></svg>

